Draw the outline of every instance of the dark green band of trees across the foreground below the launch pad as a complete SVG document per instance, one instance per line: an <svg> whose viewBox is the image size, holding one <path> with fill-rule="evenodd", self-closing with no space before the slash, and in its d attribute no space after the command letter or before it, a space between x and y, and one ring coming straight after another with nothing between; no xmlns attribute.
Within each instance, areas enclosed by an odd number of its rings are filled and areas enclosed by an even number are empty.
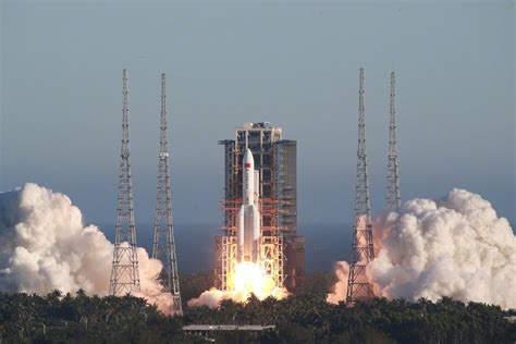
<svg viewBox="0 0 516 344"><path fill-rule="evenodd" d="M322 277L318 277L324 280ZM198 294L209 275L183 284L183 295ZM330 281L330 280L328 280ZM187 290L187 285L194 291ZM218 343L515 343L516 323L496 306L451 298L388 302L378 298L353 308L324 302L322 288L307 288L283 300L250 297L246 304L224 300L220 309L185 308L167 317L143 299L75 296L56 291L47 296L0 293L1 343L205 343L187 335L184 324L275 324L258 335L219 333ZM189 294L188 294L189 293ZM186 297L184 297L186 298Z"/></svg>

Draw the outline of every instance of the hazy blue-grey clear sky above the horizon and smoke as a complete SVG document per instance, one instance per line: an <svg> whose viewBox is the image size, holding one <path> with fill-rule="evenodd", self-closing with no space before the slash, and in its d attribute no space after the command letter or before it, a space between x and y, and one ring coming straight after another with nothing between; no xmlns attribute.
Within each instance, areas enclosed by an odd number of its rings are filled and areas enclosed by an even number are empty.
<svg viewBox="0 0 516 344"><path fill-rule="evenodd" d="M298 142L299 222L352 221L366 72L374 211L384 204L389 73L402 198L463 187L515 220L512 1L1 1L0 188L63 192L115 218L128 69L137 222L153 218L159 75L168 75L174 216L220 223L218 139L269 121Z"/></svg>

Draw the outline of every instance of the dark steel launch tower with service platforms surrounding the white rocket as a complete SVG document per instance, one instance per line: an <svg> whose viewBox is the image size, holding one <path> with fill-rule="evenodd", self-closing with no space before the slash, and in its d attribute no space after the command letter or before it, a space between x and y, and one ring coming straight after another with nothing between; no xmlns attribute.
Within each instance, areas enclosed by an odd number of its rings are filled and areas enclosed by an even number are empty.
<svg viewBox="0 0 516 344"><path fill-rule="evenodd" d="M268 122L246 123L224 146L224 200L222 235L216 237L216 287L234 287L237 262L237 220L243 204L242 161L248 148L259 175L261 214L260 265L274 286L303 288L305 243L297 235L296 142L282 139L282 130Z"/></svg>

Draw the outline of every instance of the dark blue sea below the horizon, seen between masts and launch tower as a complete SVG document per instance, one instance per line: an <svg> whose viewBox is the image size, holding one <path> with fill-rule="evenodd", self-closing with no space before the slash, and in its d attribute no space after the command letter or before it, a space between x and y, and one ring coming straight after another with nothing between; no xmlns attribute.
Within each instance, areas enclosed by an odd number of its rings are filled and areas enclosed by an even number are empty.
<svg viewBox="0 0 516 344"><path fill-rule="evenodd" d="M106 236L114 241L114 224L100 224ZM151 253L153 225L136 225L136 242ZM298 234L305 236L305 265L309 271L332 271L339 260L347 260L352 246L351 224L303 224ZM177 265L181 272L210 271L214 261L214 236L220 235L220 224L176 223L174 237Z"/></svg>

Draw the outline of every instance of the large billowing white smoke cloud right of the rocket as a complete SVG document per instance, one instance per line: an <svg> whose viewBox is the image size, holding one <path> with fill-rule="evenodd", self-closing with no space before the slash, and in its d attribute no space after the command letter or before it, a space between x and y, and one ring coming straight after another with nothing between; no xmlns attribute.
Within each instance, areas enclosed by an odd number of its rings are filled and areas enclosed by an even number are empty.
<svg viewBox="0 0 516 344"><path fill-rule="evenodd" d="M379 217L373 231L368 278L376 295L516 308L516 237L479 195L454 188L440 200L409 200Z"/></svg>

